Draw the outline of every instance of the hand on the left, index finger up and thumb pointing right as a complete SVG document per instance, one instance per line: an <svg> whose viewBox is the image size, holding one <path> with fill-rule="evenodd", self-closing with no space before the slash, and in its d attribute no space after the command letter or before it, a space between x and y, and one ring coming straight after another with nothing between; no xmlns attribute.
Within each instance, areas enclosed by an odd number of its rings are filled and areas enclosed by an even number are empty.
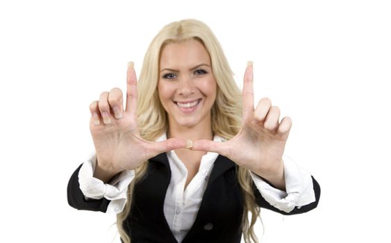
<svg viewBox="0 0 391 243"><path fill-rule="evenodd" d="M133 62L127 71L126 108L122 90L103 92L99 101L90 105L90 131L97 153L94 177L105 183L125 169L135 169L142 162L166 151L186 147L186 141L171 138L148 142L140 137L137 117L137 78Z"/></svg>

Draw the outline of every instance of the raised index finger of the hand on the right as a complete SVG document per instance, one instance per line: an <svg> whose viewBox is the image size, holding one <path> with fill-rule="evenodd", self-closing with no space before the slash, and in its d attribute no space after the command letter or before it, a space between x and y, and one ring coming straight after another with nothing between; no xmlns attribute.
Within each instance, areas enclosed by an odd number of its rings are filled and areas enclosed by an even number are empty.
<svg viewBox="0 0 391 243"><path fill-rule="evenodd" d="M253 62L247 62L246 72L243 78L243 115L254 110L254 92L253 92Z"/></svg>

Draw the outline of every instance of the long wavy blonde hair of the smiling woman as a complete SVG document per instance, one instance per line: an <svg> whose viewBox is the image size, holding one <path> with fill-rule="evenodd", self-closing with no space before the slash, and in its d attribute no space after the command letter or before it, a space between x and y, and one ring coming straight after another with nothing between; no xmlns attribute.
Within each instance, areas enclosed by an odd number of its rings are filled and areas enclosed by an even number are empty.
<svg viewBox="0 0 391 243"><path fill-rule="evenodd" d="M165 26L152 40L144 57L138 81L138 125L144 140L154 141L167 131L167 115L158 97L158 69L160 52L166 44L198 40L208 51L213 75L217 82L216 101L212 107L212 131L215 135L230 140L241 128L242 95L233 79L222 47L210 28L195 19L184 19ZM125 243L131 239L123 228L124 220L131 210L134 185L140 181L147 171L147 161L135 169L135 179L128 187L128 200L124 210L117 215L119 234ZM260 214L252 189L251 176L248 169L238 167L238 181L244 193L244 213L242 231L246 243L258 242L253 226ZM248 212L251 212L249 221Z"/></svg>

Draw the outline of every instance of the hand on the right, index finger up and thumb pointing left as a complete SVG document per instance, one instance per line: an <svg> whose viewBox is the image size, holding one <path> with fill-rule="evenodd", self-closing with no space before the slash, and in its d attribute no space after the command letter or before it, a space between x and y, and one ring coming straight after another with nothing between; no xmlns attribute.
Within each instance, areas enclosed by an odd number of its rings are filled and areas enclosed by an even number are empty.
<svg viewBox="0 0 391 243"><path fill-rule="evenodd" d="M194 141L192 150L211 151L225 156L265 178L274 186L283 188L283 152L292 120L283 117L280 109L267 98L253 105L253 67L247 66L242 92L243 117L240 132L227 142Z"/></svg>

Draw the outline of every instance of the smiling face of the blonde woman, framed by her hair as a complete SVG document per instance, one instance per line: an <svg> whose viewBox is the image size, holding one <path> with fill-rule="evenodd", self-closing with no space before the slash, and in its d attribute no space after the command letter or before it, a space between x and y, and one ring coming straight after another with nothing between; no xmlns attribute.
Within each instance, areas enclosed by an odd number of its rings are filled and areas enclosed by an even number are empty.
<svg viewBox="0 0 391 243"><path fill-rule="evenodd" d="M167 44L159 72L158 93L170 126L210 126L217 84L203 45L197 40Z"/></svg>

